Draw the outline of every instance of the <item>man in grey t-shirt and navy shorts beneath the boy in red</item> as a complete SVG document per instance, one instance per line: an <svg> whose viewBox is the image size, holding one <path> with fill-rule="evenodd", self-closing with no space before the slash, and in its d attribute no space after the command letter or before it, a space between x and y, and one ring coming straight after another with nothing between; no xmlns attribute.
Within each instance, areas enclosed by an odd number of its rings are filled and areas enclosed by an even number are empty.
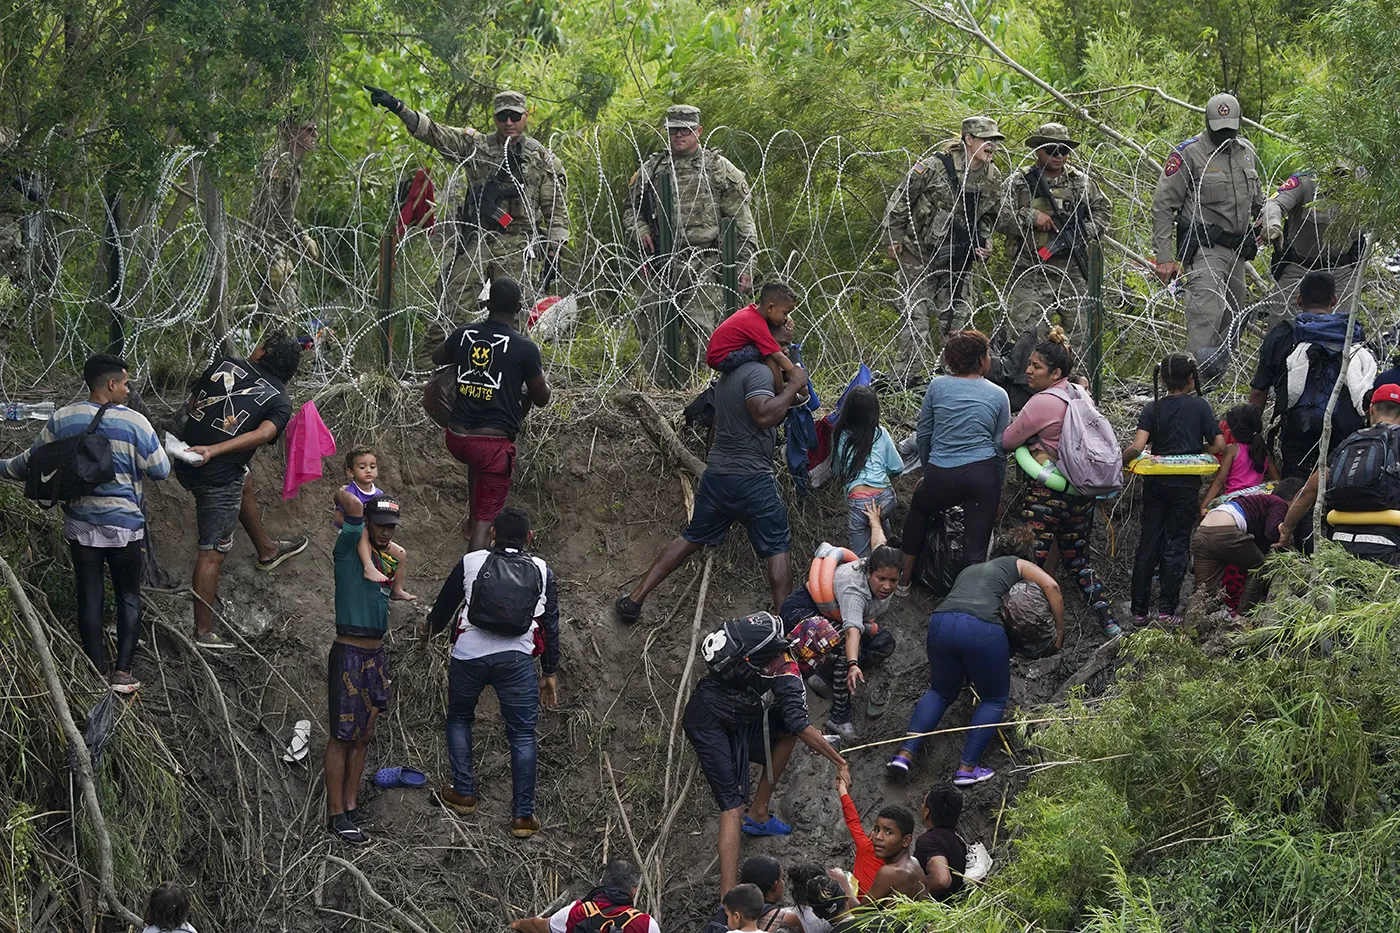
<svg viewBox="0 0 1400 933"><path fill-rule="evenodd" d="M777 328L774 328L777 331ZM749 532L753 552L767 562L773 611L792 591L791 535L787 507L773 472L778 424L806 388L806 371L794 366L778 392L764 363L745 363L714 384L714 441L696 489L690 524L661 549L637 587L617 597L617 618L633 625L641 602L696 551L718 546L734 523Z"/></svg>

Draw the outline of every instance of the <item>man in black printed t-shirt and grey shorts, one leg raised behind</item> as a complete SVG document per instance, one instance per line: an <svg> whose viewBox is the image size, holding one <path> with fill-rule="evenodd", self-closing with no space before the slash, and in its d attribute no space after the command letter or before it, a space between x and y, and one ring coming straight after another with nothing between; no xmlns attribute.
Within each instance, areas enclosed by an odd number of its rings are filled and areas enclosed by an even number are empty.
<svg viewBox="0 0 1400 933"><path fill-rule="evenodd" d="M248 464L259 447L276 441L291 420L287 382L297 375L301 345L273 331L246 360L221 356L195 382L185 403L183 438L199 464L175 461L175 479L195 495L195 527L199 556L195 559L195 643L227 649L232 643L214 632L218 574L234 548L234 527L258 551L253 566L273 570L307 549L298 535L274 539L263 528Z"/></svg>

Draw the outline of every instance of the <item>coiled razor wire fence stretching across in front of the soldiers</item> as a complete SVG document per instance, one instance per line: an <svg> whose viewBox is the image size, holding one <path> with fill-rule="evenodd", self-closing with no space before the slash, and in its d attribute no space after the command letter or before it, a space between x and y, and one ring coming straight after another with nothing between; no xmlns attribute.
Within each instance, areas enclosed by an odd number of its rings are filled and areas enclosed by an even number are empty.
<svg viewBox="0 0 1400 933"><path fill-rule="evenodd" d="M564 163L568 178L570 244L556 294L570 298L566 305L570 314L536 336L546 346L552 378L595 388L602 399L610 389L641 382L634 321L647 286L647 266L624 224L627 181L665 139L655 127L624 125L595 126L545 141ZM748 175L759 240L755 284L778 277L799 294L798 340L804 343L804 363L818 381L844 384L861 363L889 371L907 314L907 296L895 262L886 255L885 212L892 192L928 153L861 147L843 136L808 140L791 129L760 137L736 127L717 127L707 133L706 141ZM1156 148L1168 151L1165 143ZM347 156L326 148L309 157L330 160L337 168L350 207L339 224L305 230L319 242L322 258L314 261L304 252L291 256L294 311L280 315L259 308L259 283L274 256L262 231L246 220L251 199L241 196L241 191L225 191L227 209L210 205L197 178L200 156L192 148L172 151L150 199L153 209L141 217L123 219L127 224L119 234L120 275L112 290L104 291L99 282L104 237L116 220L101 195L101 179L92 177L77 185L76 196L69 199L71 206L43 209L45 249L56 269L52 287L43 290L42 301L31 294L28 303L0 310L0 326L11 340L29 336L35 315L46 308L55 321L56 357L45 367L28 347L14 347L0 360L4 398L22 398L36 385L59 382L52 367L81 368L85 356L105 349L112 318L122 325L122 349L139 378L157 370L185 377L202 370L216 354L218 317L224 318L235 353L252 350L259 333L270 325L314 338L314 352L298 373L298 385L319 395L371 391L374 374L385 371L379 356L385 325L393 329L389 378L403 384L424 381L433 370L428 361L433 346L475 317L475 310L447 308L441 298L442 265L455 248L451 220L466 182L461 170L428 147L407 140L391 151ZM1032 158L1029 153L997 154L1004 175ZM1149 207L1158 164L1109 143L1081 146L1071 164L1099 184L1113 202L1112 235L1138 255L1151 256ZM318 168L318 178L325 178L325 165ZM426 168L437 184L437 223L430 230L412 227L396 240L395 301L381 310L379 238L398 212L392 192L419 168ZM1260 182L1267 196L1302 167L1284 164L1274 167L1273 174L1264 168L1260 165ZM74 188L71 182L69 188ZM311 195L309 188L302 191L301 216L309 213ZM189 206L172 223L169 207L178 199ZM972 314L956 325L974 325L987 333L1007 328L1015 282L1002 237L994 237L993 252L987 263L974 263L969 273L965 298ZM1257 259L1254 266L1264 266L1264 261ZM1382 263L1373 266L1376 272L1366 279L1359 319L1375 342L1382 328L1393 324L1383 318L1394 305L1397 287ZM1151 385L1155 363L1184 349L1182 289L1179 283L1161 284L1151 270L1107 247L1103 276L1105 391L1140 395L1144 385ZM220 301L216 293L225 279L227 297ZM1260 289L1259 282L1250 284L1250 303L1235 310L1229 319L1236 352L1224 388L1235 394L1247 391L1254 347L1267 326L1264 312L1282 310L1267 273L1261 280L1266 287ZM526 286L525 291L535 290ZM1046 308L1044 319L1054 311ZM918 352L921 368L934 371L934 347ZM1084 359L1085 347L1077 346L1075 353Z"/></svg>

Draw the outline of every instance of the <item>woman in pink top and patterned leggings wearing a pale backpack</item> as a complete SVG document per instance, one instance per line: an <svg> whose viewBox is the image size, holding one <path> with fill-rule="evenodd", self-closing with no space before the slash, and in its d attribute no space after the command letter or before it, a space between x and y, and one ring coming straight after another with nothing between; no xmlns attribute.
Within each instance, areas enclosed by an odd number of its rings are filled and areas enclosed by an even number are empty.
<svg viewBox="0 0 1400 933"><path fill-rule="evenodd" d="M1074 368L1074 354L1064 331L1054 328L1030 354L1026 364L1026 380L1035 395L1021 409L1016 419L1001 436L1001 445L1008 451L1022 444L1030 448L1039 462L1056 459L1060 455L1060 433L1064 429L1064 413L1070 402L1058 394L1046 389L1061 388L1068 382ZM1043 483L1030 483L1022 502L1022 518L1035 531L1035 558L1042 567L1050 556L1050 546L1058 544L1060 559L1074 577L1084 601L1099 616L1103 633L1114 637L1123 633L1113 621L1113 608L1103 595L1103 583L1093 573L1089 560L1089 542L1093 538L1093 499L1058 493Z"/></svg>

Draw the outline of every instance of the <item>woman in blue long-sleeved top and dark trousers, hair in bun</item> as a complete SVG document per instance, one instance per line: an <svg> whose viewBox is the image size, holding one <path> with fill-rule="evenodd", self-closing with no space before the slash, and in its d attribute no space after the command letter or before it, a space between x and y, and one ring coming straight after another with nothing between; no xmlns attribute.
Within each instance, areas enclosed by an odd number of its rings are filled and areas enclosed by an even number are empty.
<svg viewBox="0 0 1400 933"><path fill-rule="evenodd" d="M914 490L904 518L904 570L900 593L909 591L914 562L935 513L963 506L963 553L969 563L987 559L991 528L1001 506L1005 451L1001 433L1011 423L1007 391L987 381L991 349L980 331L960 331L944 345L951 375L928 384L918 412L918 458L924 479Z"/></svg>

